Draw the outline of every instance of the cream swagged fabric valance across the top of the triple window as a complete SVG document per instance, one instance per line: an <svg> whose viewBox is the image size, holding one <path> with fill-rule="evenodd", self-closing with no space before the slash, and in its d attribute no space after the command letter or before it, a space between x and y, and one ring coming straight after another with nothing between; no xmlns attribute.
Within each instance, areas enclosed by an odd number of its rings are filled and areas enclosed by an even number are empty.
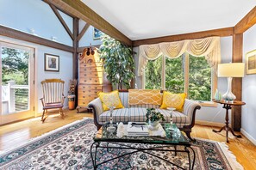
<svg viewBox="0 0 256 170"><path fill-rule="evenodd" d="M164 54L167 58L178 58L184 52L195 57L204 56L210 67L215 71L221 62L220 37L205 39L185 39L176 42L165 42L154 45L142 45L139 47L138 76L142 76L148 60L154 60Z"/></svg>

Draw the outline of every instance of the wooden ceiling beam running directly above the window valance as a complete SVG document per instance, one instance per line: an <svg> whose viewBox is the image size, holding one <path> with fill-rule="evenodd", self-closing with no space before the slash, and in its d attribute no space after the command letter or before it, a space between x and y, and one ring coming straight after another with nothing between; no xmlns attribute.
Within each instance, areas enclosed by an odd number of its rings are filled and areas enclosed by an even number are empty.
<svg viewBox="0 0 256 170"><path fill-rule="evenodd" d="M202 32L196 32L196 33L184 33L184 34L178 34L178 35L158 37L153 39L134 40L133 46L151 45L151 44L158 44L161 42L173 42L173 41L179 41L184 39L203 39L203 38L212 37L212 36L226 37L226 36L232 36L233 34L234 34L234 27L225 27L221 29L213 29L209 31L202 31Z"/></svg>

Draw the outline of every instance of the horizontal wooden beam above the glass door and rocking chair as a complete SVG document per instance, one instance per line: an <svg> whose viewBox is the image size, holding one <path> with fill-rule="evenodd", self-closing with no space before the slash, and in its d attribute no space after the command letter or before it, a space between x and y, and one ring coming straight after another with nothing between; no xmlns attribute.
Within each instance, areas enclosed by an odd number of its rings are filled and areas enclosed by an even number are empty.
<svg viewBox="0 0 256 170"><path fill-rule="evenodd" d="M24 33L22 31L18 31L16 29L12 29L9 27L0 26L0 35L10 37L13 39L20 39L20 40L28 41L28 42L35 43L35 44L42 45L42 46L49 46L49 47L63 50L66 52L74 51L72 46L66 46L66 45L60 44L58 42L54 42L54 41L48 40L48 39L43 39L41 37L37 37L37 36L34 36L29 33Z"/></svg>

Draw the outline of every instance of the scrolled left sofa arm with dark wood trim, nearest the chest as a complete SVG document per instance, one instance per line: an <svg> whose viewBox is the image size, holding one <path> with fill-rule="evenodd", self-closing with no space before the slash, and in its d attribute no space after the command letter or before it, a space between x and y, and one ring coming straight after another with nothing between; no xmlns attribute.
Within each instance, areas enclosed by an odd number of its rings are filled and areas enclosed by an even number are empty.
<svg viewBox="0 0 256 170"><path fill-rule="evenodd" d="M95 100L92 100L89 104L88 107L92 109L93 116L94 116L94 124L97 126L99 129L102 124L99 124L99 116L101 113L103 113L103 104L102 101L97 98Z"/></svg>

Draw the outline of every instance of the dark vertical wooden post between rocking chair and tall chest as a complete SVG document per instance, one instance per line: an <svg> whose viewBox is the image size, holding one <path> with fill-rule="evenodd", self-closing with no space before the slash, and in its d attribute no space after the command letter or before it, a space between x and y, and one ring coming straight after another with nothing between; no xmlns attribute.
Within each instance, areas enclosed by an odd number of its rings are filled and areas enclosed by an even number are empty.
<svg viewBox="0 0 256 170"><path fill-rule="evenodd" d="M73 18L73 48L74 48L74 52L73 52L73 78L78 80L78 33L79 33L79 28L78 28L78 24L79 24L79 19L77 17ZM78 106L78 83L77 83L77 87L75 90L75 95L76 95L76 102L75 102L75 106Z"/></svg>

